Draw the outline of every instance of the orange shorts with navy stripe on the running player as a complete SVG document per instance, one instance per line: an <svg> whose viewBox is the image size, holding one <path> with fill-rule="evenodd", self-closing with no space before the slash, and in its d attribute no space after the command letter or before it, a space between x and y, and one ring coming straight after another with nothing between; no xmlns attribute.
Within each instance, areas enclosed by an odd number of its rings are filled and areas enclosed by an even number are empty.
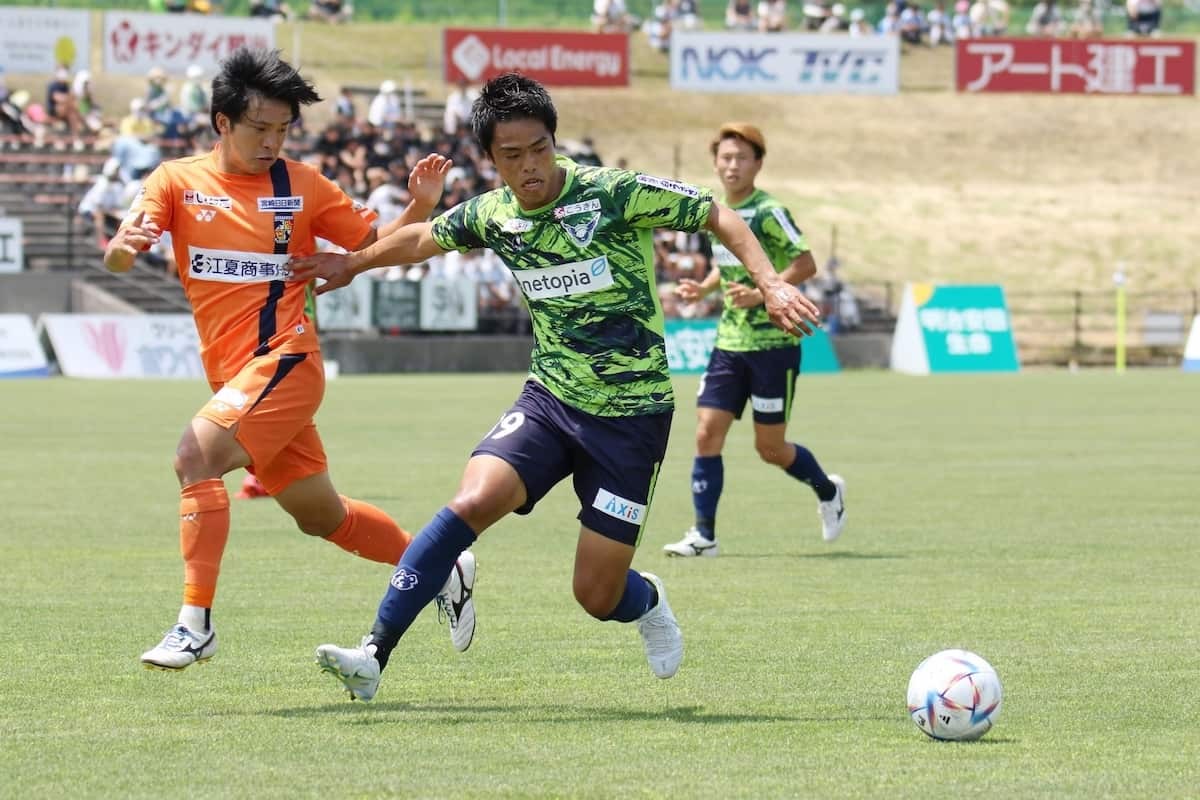
<svg viewBox="0 0 1200 800"><path fill-rule="evenodd" d="M251 471L269 494L328 469L313 416L325 395L320 353L268 354L250 361L196 416L227 431L250 453Z"/></svg>

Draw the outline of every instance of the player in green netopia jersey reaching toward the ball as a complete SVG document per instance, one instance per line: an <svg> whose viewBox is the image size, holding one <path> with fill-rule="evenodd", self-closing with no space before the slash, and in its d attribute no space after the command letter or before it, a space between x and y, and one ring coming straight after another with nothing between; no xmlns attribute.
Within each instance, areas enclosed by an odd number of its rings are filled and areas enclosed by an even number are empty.
<svg viewBox="0 0 1200 800"><path fill-rule="evenodd" d="M352 698L374 697L392 649L457 555L508 513L528 513L568 475L580 500L576 601L596 619L636 621L650 669L671 678L683 636L662 582L630 569L674 408L653 229L707 228L746 265L773 324L799 336L817 318L742 218L709 192L557 157L557 126L535 80L509 73L488 82L472 132L502 188L356 253L293 261L296 279L324 278L318 291L328 291L371 267L490 247L516 277L533 321L529 379L472 453L454 499L413 540L371 633L358 648L317 649L318 664Z"/></svg>

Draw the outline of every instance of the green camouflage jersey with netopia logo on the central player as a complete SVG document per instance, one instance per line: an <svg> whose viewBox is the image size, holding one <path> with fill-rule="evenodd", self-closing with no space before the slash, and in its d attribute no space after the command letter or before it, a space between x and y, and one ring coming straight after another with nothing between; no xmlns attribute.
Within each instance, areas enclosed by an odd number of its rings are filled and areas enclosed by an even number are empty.
<svg viewBox="0 0 1200 800"><path fill-rule="evenodd" d="M624 169L566 169L552 203L524 211L508 187L433 221L443 249L490 247L512 271L533 320L530 374L563 403L598 416L674 408L654 282L653 231L695 233L713 196Z"/></svg>

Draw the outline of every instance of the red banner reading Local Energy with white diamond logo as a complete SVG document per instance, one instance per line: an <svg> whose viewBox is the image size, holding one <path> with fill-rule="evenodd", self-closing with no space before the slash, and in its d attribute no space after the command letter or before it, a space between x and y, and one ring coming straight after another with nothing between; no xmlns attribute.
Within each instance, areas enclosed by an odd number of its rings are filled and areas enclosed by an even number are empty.
<svg viewBox="0 0 1200 800"><path fill-rule="evenodd" d="M446 28L446 83L521 72L547 86L628 86L629 36L563 30Z"/></svg>

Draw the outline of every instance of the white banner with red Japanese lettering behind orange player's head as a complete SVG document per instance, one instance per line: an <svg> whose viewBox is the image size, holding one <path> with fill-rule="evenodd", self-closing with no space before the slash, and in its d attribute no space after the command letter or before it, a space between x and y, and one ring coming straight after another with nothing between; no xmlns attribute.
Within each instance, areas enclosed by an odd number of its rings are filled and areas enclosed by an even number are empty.
<svg viewBox="0 0 1200 800"><path fill-rule="evenodd" d="M211 76L239 47L274 48L275 25L236 17L106 11L102 42L109 73L144 76L157 66L181 76L198 64Z"/></svg>

